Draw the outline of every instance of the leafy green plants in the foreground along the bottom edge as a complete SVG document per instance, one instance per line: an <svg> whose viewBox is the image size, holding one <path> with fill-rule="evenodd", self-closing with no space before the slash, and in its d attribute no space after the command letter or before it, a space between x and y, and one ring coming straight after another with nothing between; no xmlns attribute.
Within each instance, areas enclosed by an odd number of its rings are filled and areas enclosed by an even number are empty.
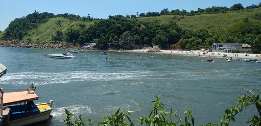
<svg viewBox="0 0 261 126"><path fill-rule="evenodd" d="M219 123L220 126L229 126L231 121L235 122L236 115L250 105L256 106L259 115L253 115L253 117L251 117L249 121L247 121L247 123L251 123L250 126L261 126L261 100L259 98L259 94L261 92L257 94L254 94L252 90L247 90L247 92L250 93L251 96L243 95L243 97L239 97L236 106L232 106L231 109L225 110L225 114L222 116L222 119ZM171 107L168 112L165 111L165 105L162 102L160 102L159 96L156 96L156 101L152 101L152 103L153 109L146 107L149 110L151 110L149 116L144 115L143 117L140 117L141 125L145 124L146 126L194 126L194 118L192 117L191 107L189 108L189 110L184 112L185 118L184 120L182 120L176 115L177 111L172 113ZM141 104L135 104L142 106ZM92 126L92 120L89 119L88 124L86 124L82 120L81 115L78 119L74 121L74 123L72 123L71 118L73 117L73 114L67 109L65 109L65 112L67 114L65 126ZM111 117L104 117L102 118L102 122L97 122L97 124L98 126L134 126L134 124L128 116L130 115L130 113L131 111L128 110L119 112L118 109L114 112L114 114ZM174 122L174 119L177 119L178 121ZM205 126L218 126L218 124L209 123Z"/></svg>

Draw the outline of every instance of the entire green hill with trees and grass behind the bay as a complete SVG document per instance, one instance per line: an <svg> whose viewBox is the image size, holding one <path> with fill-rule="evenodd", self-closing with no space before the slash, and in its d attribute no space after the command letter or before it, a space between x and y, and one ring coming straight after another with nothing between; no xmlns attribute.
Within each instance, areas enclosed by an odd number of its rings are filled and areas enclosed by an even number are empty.
<svg viewBox="0 0 261 126"><path fill-rule="evenodd" d="M218 7L208 9L215 8ZM89 42L96 43L96 48L101 50L126 48L124 45L130 42L159 45L163 49L176 44L182 50L197 50L223 42L250 44L253 51L261 51L261 7L222 12L208 9L179 15L154 12L151 14L157 16L139 18L116 15L108 19L35 11L12 21L0 33L0 39L73 45Z"/></svg>

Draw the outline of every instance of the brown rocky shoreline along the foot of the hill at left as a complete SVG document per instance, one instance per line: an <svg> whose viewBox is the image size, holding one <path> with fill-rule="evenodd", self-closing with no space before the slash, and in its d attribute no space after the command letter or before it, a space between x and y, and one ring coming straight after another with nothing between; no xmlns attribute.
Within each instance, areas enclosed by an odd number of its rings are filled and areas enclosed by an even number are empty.
<svg viewBox="0 0 261 126"><path fill-rule="evenodd" d="M0 41L0 47L18 47L18 48L42 48L42 49L76 49L76 50L97 50L95 48L88 48L82 46L73 46L68 43L31 43L22 42L19 40Z"/></svg>

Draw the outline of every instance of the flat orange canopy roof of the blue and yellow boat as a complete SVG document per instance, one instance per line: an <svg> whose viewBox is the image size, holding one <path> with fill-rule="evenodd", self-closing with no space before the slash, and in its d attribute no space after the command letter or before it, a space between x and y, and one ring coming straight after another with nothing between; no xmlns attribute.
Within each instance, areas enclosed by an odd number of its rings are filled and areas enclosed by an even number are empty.
<svg viewBox="0 0 261 126"><path fill-rule="evenodd" d="M3 105L11 105L22 103L25 101L32 101L38 100L38 96L34 94L27 94L28 91L21 91L21 92L10 92L3 94Z"/></svg>

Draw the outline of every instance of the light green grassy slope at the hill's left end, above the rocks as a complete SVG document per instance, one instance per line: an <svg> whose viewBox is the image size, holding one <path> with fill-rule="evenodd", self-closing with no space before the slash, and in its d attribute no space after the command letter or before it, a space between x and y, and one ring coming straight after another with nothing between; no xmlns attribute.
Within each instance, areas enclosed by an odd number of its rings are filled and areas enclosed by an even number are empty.
<svg viewBox="0 0 261 126"><path fill-rule="evenodd" d="M70 21L69 19L61 17L52 18L49 19L47 23L29 31L29 33L24 36L23 41L26 42L30 39L32 42L49 42L51 37L56 35L57 30L62 31L62 33L65 34L70 28L79 29L81 28L80 25L89 27L92 24L94 24L94 22Z"/></svg>

